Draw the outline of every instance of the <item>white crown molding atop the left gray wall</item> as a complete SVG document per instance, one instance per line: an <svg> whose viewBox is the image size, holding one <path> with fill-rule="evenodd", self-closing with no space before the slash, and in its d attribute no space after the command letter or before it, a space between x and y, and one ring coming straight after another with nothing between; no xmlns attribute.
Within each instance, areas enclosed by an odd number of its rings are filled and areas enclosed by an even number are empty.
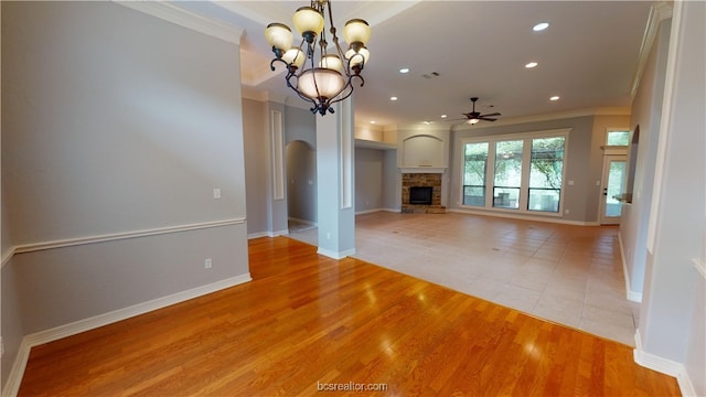
<svg viewBox="0 0 706 397"><path fill-rule="evenodd" d="M240 37L244 33L243 28L193 13L191 11L182 9L179 6L175 6L172 2L122 0L113 1L116 4L120 4L129 9L146 13L148 15L178 24L180 26L191 29L199 33L221 39L228 43L240 45Z"/></svg>

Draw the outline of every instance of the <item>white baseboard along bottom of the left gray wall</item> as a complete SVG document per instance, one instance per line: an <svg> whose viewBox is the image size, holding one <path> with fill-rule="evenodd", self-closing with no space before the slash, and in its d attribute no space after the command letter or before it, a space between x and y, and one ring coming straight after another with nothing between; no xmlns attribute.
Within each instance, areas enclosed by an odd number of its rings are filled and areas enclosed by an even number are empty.
<svg viewBox="0 0 706 397"><path fill-rule="evenodd" d="M220 280L206 286L192 288L186 291L176 292L167 297L158 298L148 302L137 303L124 309L114 310L111 312L98 314L93 318L78 320L73 323L60 325L50 330L35 332L33 334L25 335L22 339L18 355L14 358L14 364L10 371L8 383L2 390L3 396L15 396L20 389L22 383L22 376L30 356L30 351L34 346L39 346L44 343L50 343L63 337L76 335L82 332L95 330L99 326L108 325L118 321L127 320L136 315L145 314L154 310L167 308L169 305L184 302L194 298L199 298L208 293L213 293L226 288L235 287L245 282L252 281L250 273L244 273L240 276L232 277L225 280Z"/></svg>

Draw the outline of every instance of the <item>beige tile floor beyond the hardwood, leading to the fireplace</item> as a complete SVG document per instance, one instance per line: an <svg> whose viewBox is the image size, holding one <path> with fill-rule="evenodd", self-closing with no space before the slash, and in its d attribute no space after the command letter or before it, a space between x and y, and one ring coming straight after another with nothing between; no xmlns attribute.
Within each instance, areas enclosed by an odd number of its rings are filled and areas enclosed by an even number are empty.
<svg viewBox="0 0 706 397"><path fill-rule="evenodd" d="M634 346L618 227L377 212L356 216L355 245L359 259Z"/></svg>

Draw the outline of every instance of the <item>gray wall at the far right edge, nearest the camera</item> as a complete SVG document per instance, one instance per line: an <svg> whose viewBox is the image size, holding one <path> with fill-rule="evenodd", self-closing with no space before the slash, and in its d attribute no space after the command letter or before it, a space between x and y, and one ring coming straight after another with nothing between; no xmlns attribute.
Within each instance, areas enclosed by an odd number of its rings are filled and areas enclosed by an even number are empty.
<svg viewBox="0 0 706 397"><path fill-rule="evenodd" d="M649 354L683 363L695 395L706 395L704 289L694 260L706 262L706 3L675 2L667 56L667 88L660 129L651 226L639 332ZM671 67L673 66L673 67ZM665 92L670 92L665 89ZM661 178L660 178L661 174ZM649 242L649 239L648 239ZM648 244L650 248L650 244Z"/></svg>

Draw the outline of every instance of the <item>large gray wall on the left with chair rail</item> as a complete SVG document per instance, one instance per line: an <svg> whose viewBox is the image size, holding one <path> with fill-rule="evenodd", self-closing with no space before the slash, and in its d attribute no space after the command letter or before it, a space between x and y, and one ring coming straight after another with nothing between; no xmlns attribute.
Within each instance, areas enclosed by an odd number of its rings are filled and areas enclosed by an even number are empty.
<svg viewBox="0 0 706 397"><path fill-rule="evenodd" d="M244 223L82 243L245 218L238 45L111 2L1 7L3 244L30 247L2 269L2 335L247 276Z"/></svg>

